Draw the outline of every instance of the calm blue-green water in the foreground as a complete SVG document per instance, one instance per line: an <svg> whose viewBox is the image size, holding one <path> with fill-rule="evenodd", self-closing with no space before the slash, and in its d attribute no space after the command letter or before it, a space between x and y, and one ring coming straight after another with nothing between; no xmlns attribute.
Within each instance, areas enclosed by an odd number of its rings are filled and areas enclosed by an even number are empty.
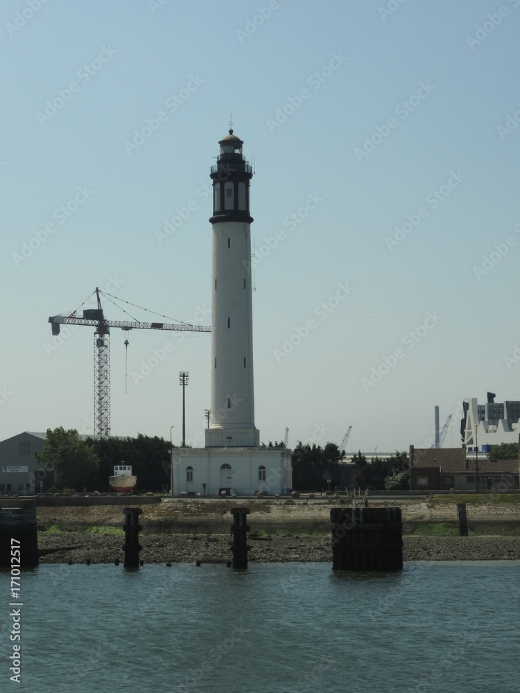
<svg viewBox="0 0 520 693"><path fill-rule="evenodd" d="M0 690L520 692L520 562L41 565L22 574L21 685Z"/></svg>

